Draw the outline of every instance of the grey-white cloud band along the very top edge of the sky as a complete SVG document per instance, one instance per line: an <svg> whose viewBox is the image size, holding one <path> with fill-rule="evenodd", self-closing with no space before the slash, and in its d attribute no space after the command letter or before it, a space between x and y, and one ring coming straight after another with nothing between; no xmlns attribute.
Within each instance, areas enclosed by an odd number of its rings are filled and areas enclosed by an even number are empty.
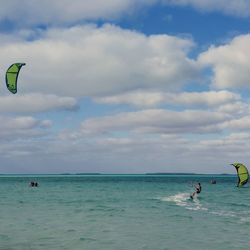
<svg viewBox="0 0 250 250"><path fill-rule="evenodd" d="M22 0L22 4L18 0L1 0L0 21L15 23L18 27L69 25L129 16L143 7L161 3L234 16L250 15L250 3L246 0Z"/></svg>

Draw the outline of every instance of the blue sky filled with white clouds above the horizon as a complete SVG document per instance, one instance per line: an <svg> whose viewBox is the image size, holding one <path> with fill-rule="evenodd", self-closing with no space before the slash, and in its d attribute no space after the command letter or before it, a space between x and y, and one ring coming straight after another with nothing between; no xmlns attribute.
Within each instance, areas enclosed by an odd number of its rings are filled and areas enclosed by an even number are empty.
<svg viewBox="0 0 250 250"><path fill-rule="evenodd" d="M250 165L250 1L1 2L0 173Z"/></svg>

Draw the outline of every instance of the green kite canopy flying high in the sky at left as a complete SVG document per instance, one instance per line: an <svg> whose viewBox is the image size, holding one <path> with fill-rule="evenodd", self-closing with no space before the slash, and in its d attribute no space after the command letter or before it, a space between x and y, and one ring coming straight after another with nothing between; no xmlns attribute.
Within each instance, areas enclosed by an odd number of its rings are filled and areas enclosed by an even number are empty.
<svg viewBox="0 0 250 250"><path fill-rule="evenodd" d="M17 79L19 71L24 65L25 63L14 63L6 71L5 75L6 86L8 90L13 94L16 94L17 92Z"/></svg>

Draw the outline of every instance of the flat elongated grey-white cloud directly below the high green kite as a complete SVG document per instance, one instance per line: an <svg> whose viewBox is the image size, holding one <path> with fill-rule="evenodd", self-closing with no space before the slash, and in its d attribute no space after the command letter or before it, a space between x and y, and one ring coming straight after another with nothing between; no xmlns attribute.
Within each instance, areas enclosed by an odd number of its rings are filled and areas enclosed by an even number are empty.
<svg viewBox="0 0 250 250"><path fill-rule="evenodd" d="M75 110L77 101L72 97L58 97L38 93L0 96L0 112L35 113L51 110Z"/></svg>

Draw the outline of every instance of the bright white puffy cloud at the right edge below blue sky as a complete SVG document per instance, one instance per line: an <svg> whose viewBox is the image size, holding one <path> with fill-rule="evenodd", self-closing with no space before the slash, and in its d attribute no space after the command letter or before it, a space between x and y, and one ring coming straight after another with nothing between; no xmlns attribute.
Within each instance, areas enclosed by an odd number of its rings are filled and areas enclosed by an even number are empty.
<svg viewBox="0 0 250 250"><path fill-rule="evenodd" d="M211 47L199 56L201 64L212 66L215 88L249 88L249 43L250 35L241 35L229 44Z"/></svg>

